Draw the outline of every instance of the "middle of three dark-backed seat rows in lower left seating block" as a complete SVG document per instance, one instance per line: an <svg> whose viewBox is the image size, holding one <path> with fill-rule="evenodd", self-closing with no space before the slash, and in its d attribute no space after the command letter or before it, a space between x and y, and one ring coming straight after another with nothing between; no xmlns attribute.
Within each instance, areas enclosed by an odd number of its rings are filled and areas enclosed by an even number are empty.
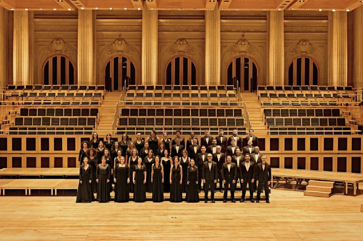
<svg viewBox="0 0 363 241"><path fill-rule="evenodd" d="M15 126L95 126L96 117L15 117Z"/></svg>

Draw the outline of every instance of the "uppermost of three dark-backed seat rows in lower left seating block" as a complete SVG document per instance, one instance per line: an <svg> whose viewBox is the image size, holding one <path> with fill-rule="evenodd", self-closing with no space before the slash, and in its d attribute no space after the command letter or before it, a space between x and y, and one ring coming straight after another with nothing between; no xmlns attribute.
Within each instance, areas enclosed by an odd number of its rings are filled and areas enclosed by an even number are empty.
<svg viewBox="0 0 363 241"><path fill-rule="evenodd" d="M97 108L21 108L20 116L97 116Z"/></svg>

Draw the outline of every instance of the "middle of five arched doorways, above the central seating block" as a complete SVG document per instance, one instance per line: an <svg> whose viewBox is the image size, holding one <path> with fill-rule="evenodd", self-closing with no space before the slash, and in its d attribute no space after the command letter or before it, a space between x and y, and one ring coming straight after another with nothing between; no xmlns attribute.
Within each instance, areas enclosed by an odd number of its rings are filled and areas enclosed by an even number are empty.
<svg viewBox="0 0 363 241"><path fill-rule="evenodd" d="M164 85L198 85L197 67L191 58L173 57L166 66Z"/></svg>

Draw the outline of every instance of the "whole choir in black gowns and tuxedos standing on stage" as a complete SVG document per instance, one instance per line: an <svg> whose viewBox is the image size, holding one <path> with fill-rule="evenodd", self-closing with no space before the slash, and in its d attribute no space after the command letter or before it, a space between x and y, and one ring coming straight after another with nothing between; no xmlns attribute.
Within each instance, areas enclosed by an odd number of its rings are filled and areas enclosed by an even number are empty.
<svg viewBox="0 0 363 241"><path fill-rule="evenodd" d="M79 185L77 203L111 200L112 184L115 190L115 202L127 202L133 193L135 202L146 201L146 192L152 193L153 202L164 201L164 193L170 193L171 202L199 202L202 182L204 202L215 203L214 193L224 192L223 202L227 202L228 189L231 201L235 203L234 192L240 183L242 195L240 202L245 201L247 184L250 202L254 203L253 192L257 190L260 202L261 192L265 192L266 203L269 203L269 185L271 167L266 163L266 155L260 153L258 138L249 130L245 137L247 146L242 147L242 138L233 130L233 135L224 136L223 129L215 138L205 135L200 145L194 133L185 142L176 131L174 139L163 133L159 139L155 131L144 141L141 134L131 141L127 134L121 141L113 141L111 134L104 141L94 132L90 142L83 141L79 151ZM96 193L96 198L94 196Z"/></svg>

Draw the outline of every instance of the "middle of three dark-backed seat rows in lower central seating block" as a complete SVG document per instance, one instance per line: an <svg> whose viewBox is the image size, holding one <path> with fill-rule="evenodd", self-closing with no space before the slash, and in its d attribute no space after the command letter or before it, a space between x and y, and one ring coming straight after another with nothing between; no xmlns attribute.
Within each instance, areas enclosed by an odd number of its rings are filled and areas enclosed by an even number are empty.
<svg viewBox="0 0 363 241"><path fill-rule="evenodd" d="M189 117L189 118L166 118L166 117L121 117L119 126L218 126L236 127L244 126L244 119L237 118L215 118L215 117Z"/></svg>

